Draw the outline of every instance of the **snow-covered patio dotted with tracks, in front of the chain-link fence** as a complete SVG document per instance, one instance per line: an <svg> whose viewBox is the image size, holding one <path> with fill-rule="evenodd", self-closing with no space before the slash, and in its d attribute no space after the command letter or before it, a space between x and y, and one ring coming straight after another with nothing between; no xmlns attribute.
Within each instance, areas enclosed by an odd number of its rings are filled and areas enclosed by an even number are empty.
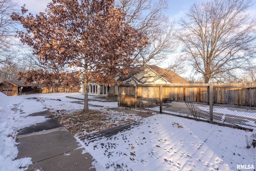
<svg viewBox="0 0 256 171"><path fill-rule="evenodd" d="M204 122L154 115L129 131L85 144L99 166L112 170L236 170L256 165L246 149L248 132ZM104 170L104 168L99 169Z"/></svg>

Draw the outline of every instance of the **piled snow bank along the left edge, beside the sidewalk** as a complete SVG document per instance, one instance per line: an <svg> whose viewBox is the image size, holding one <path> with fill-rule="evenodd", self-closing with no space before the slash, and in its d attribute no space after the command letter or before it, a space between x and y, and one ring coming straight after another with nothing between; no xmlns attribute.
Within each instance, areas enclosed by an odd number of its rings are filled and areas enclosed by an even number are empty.
<svg viewBox="0 0 256 171"><path fill-rule="evenodd" d="M14 102L14 101L12 101ZM18 102L18 101L17 101ZM20 102L19 102L20 103ZM14 105L15 104L15 105ZM17 125L15 123L20 116L14 110L18 103L11 103L10 98L0 92L0 170L16 171L19 167L32 164L31 158L14 160L18 155L16 139Z"/></svg>

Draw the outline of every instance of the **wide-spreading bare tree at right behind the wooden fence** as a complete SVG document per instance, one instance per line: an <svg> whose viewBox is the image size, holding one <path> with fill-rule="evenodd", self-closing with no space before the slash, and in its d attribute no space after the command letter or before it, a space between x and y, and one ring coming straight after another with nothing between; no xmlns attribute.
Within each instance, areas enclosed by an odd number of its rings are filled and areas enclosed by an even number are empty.
<svg viewBox="0 0 256 171"><path fill-rule="evenodd" d="M180 20L183 52L204 83L223 81L250 64L256 54L256 22L246 10L252 0L210 0L194 4Z"/></svg>

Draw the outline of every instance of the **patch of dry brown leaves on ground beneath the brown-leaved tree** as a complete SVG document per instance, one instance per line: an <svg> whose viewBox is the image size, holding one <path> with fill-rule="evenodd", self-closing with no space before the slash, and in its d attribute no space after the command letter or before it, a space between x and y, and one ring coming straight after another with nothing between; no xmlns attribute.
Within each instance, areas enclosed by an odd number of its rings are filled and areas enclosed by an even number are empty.
<svg viewBox="0 0 256 171"><path fill-rule="evenodd" d="M89 111L56 111L52 112L51 116L58 119L72 135L82 136L104 129L116 127L140 120L140 116L128 114L124 112L109 112L99 110Z"/></svg>

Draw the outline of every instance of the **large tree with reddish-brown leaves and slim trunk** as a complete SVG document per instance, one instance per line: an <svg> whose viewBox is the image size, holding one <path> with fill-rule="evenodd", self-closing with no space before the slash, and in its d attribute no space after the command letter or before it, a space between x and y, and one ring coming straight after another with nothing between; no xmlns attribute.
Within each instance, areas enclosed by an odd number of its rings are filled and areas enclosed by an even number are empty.
<svg viewBox="0 0 256 171"><path fill-rule="evenodd" d="M22 14L15 13L12 19L23 24L26 32L19 32L20 40L33 48L41 62L69 67L62 73L35 70L21 77L39 84L68 80L66 85L71 86L82 78L84 110L88 110L88 82L116 84L113 75L127 75L129 68L123 64L147 42L114 8L114 0L52 0L45 12L33 16L22 7Z"/></svg>

